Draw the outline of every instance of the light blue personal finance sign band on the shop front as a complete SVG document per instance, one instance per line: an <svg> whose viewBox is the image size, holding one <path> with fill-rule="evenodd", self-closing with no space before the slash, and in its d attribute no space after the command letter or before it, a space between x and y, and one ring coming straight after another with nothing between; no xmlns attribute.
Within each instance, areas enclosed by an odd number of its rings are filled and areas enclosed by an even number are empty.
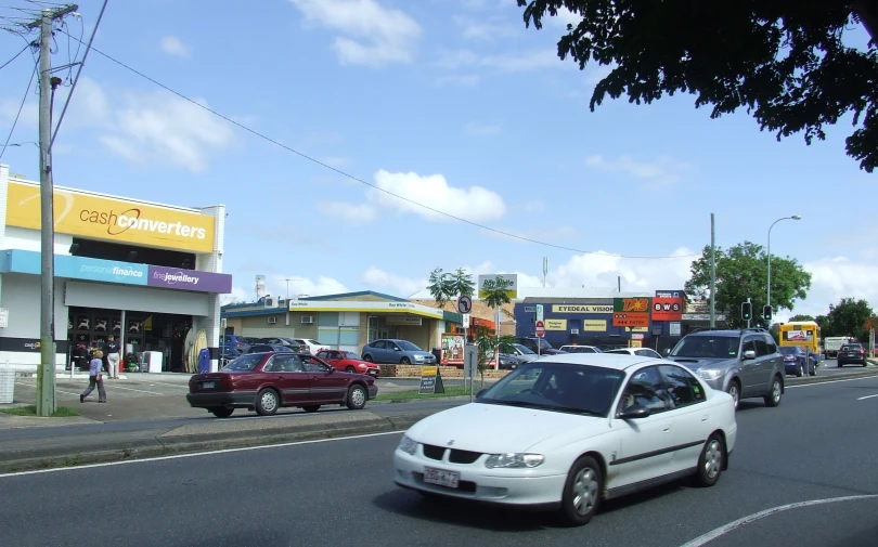
<svg viewBox="0 0 878 547"><path fill-rule="evenodd" d="M40 275L39 252L18 249L3 252L5 253L2 261L3 273ZM149 281L149 266L130 262L55 255L55 277L145 286Z"/></svg>

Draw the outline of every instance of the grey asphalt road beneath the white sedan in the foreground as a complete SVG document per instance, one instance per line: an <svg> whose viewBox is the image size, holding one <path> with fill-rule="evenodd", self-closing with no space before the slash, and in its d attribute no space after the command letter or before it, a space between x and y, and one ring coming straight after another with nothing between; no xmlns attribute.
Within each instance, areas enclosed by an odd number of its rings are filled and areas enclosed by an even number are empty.
<svg viewBox="0 0 878 547"><path fill-rule="evenodd" d="M0 545L680 547L785 504L878 493L878 378L744 401L738 424L715 487L610 502L581 529L397 489L397 433L0 477ZM878 496L791 507L689 546L871 547L876 513Z"/></svg>

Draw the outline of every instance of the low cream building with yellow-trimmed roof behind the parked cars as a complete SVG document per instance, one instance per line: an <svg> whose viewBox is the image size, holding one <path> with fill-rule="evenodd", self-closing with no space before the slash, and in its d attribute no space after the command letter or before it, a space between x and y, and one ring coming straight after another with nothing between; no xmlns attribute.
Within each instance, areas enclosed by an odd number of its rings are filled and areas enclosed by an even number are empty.
<svg viewBox="0 0 878 547"><path fill-rule="evenodd" d="M459 313L371 290L299 299L264 297L222 309L225 334L310 338L327 348L360 352L382 338L409 340L425 351L463 322Z"/></svg>

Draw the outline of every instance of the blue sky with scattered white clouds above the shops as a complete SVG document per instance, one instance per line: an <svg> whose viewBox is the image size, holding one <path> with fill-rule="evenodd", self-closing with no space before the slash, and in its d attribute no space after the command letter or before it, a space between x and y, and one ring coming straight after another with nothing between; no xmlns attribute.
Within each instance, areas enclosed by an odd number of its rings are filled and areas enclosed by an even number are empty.
<svg viewBox="0 0 878 547"><path fill-rule="evenodd" d="M87 41L101 4L79 1L69 35ZM527 28L515 0L205 5L109 0L95 50L191 101L92 51L55 141L54 181L224 204L227 300L251 301L256 275L277 296L423 298L436 268L517 273L535 287L543 257L552 287L621 276L624 291L682 288L712 212L722 248L764 246L772 222L802 216L771 239L813 275L792 313L825 314L843 297L878 307L875 177L844 154L850 117L808 146L801 134L777 142L745 112L712 120L692 95L592 113L608 68L557 56L577 17ZM848 38L866 41L856 28ZM0 65L24 43L0 32ZM83 49L59 34L52 63ZM0 145L33 70L29 52L0 69ZM62 105L70 71L56 76ZM35 87L26 96L10 140L21 146L0 162L38 180Z"/></svg>

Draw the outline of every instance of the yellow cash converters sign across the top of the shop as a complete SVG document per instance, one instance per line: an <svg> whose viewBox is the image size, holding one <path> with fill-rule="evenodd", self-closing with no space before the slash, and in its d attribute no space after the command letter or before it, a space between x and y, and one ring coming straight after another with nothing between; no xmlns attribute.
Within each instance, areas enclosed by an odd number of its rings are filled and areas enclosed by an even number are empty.
<svg viewBox="0 0 878 547"><path fill-rule="evenodd" d="M214 217L55 188L55 232L194 252L214 250ZM40 229L38 184L9 183L7 225Z"/></svg>

